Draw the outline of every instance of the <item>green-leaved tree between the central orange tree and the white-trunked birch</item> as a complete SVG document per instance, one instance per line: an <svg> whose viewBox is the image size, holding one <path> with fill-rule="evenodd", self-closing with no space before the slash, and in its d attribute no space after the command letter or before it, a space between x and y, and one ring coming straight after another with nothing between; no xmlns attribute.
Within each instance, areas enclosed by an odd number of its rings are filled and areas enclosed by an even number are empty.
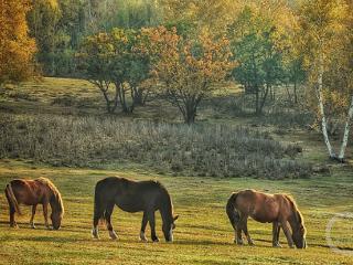
<svg viewBox="0 0 353 265"><path fill-rule="evenodd" d="M255 95L255 113L263 114L269 93L284 75L278 31L272 21L249 7L228 28L233 59L237 62L234 78L246 93Z"/></svg>

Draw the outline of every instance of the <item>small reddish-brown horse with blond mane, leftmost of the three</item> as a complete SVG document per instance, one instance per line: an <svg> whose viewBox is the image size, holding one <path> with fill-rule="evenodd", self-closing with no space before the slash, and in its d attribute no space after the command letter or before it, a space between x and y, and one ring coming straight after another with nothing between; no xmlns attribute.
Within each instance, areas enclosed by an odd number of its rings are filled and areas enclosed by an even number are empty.
<svg viewBox="0 0 353 265"><path fill-rule="evenodd" d="M46 178L35 180L15 179L7 184L4 190L10 208L10 226L18 226L14 221L14 213L22 214L19 204L32 205L32 216L30 220L31 227L34 226L34 214L38 204L43 204L43 214L45 226L47 223L47 204L51 204L51 220L54 230L58 230L64 214L62 197L56 187Z"/></svg>

